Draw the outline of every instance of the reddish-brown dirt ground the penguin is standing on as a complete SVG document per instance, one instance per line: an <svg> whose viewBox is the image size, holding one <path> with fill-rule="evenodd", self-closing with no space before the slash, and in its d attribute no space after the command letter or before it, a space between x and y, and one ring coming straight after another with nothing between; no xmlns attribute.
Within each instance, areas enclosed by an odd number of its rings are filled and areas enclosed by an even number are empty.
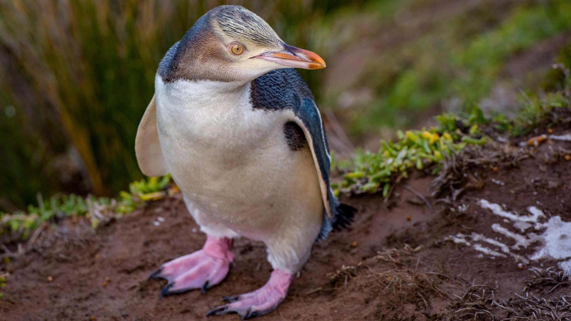
<svg viewBox="0 0 571 321"><path fill-rule="evenodd" d="M387 201L344 196L359 210L352 227L315 245L286 300L260 320L571 320L571 277L561 271L571 266L547 246L571 230L546 232L555 216L559 227L571 222L571 142L517 146L571 133L571 113L559 119L550 130L469 150L436 180L414 172ZM504 216L485 207L496 203ZM95 231L82 220L46 230L34 251L0 263L8 273L0 320L237 320L204 314L266 282L261 243L237 240L230 274L206 294L159 298L164 281L147 280L202 247L197 230L178 197ZM564 254L571 248L560 245ZM532 259L540 252L548 255Z"/></svg>

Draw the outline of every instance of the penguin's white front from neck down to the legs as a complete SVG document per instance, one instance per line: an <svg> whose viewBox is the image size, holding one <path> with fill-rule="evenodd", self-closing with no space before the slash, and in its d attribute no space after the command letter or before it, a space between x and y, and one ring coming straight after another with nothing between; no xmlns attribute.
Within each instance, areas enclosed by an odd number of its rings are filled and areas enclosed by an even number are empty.
<svg viewBox="0 0 571 321"><path fill-rule="evenodd" d="M202 215L239 235L266 241L287 230L315 240L323 200L311 151L289 148L288 111L255 110L244 91L208 99L156 91L172 178Z"/></svg>

